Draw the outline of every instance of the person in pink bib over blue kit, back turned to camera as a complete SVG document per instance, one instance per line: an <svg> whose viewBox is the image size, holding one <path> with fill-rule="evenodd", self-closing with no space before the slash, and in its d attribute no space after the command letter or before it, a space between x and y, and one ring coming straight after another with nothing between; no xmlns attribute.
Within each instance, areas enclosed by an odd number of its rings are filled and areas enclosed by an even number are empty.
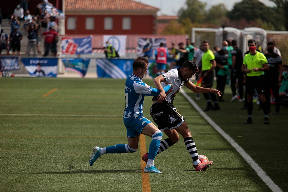
<svg viewBox="0 0 288 192"><path fill-rule="evenodd" d="M155 51L157 76L165 73L168 56L168 50L164 47L164 43L161 42L160 47L158 47Z"/></svg>

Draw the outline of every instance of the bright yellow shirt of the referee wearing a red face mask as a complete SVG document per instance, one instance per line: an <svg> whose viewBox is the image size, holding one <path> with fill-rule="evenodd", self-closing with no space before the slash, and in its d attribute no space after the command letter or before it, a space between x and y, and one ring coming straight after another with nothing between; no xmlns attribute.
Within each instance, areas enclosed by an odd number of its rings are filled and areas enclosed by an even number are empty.
<svg viewBox="0 0 288 192"><path fill-rule="evenodd" d="M245 55L245 57L243 59L243 65L246 65L247 69L249 69L249 70L251 70L255 67L261 68L267 62L268 61L267 61L266 57L264 56L264 54L260 53L258 51L256 52L255 55L251 55L250 53L248 53L247 55ZM249 76L249 77L260 76L260 75L264 75L264 72L252 70L250 73L247 73L247 76Z"/></svg>

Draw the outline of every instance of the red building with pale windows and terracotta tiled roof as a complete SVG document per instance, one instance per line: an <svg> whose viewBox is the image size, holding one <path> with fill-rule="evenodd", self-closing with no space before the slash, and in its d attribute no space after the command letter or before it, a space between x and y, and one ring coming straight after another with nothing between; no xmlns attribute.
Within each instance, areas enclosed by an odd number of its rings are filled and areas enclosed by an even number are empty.
<svg viewBox="0 0 288 192"><path fill-rule="evenodd" d="M157 7L132 0L65 0L66 35L157 34Z"/></svg>

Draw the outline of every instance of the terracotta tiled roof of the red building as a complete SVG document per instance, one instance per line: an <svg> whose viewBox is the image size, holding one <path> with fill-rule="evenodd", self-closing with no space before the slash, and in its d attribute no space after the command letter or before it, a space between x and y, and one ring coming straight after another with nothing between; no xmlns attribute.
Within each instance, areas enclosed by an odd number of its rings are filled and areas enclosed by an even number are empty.
<svg viewBox="0 0 288 192"><path fill-rule="evenodd" d="M158 11L157 7L152 7L132 0L65 0L65 10L143 10Z"/></svg>

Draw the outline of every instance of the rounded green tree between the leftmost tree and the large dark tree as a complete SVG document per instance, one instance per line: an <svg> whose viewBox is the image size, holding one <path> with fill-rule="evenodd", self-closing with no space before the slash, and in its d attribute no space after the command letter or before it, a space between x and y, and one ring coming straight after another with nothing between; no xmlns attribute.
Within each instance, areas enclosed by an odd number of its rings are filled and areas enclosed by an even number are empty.
<svg viewBox="0 0 288 192"><path fill-rule="evenodd" d="M226 20L226 14L228 9L224 5L224 3L220 3L218 5L213 5L209 10L206 16L206 22L212 23L217 26L223 25Z"/></svg>

